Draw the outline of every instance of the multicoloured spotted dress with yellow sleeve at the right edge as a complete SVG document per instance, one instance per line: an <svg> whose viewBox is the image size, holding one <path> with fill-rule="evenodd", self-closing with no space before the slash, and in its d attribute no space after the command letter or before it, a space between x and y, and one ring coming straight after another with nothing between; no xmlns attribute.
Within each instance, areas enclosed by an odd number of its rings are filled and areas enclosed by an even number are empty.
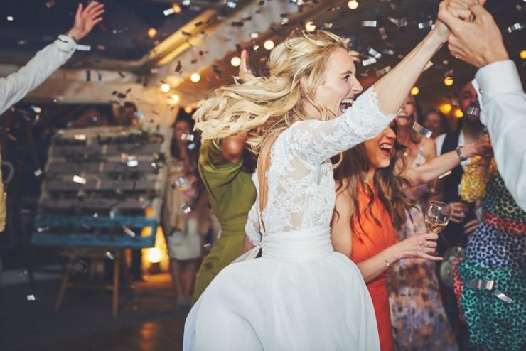
<svg viewBox="0 0 526 351"><path fill-rule="evenodd" d="M460 277L455 292L468 323L469 346L525 350L526 212L505 187L493 158L471 158L461 197L482 199L483 210L481 225L468 237L466 259L453 270ZM495 290L477 287L478 281L493 281Z"/></svg>

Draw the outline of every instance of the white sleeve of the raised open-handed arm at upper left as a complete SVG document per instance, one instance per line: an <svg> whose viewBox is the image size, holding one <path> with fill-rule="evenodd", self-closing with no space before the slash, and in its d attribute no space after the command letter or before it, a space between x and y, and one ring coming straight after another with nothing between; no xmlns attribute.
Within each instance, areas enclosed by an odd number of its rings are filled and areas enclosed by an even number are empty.
<svg viewBox="0 0 526 351"><path fill-rule="evenodd" d="M23 68L0 78L0 114L48 79L73 55L76 48L72 38L60 35L56 41L38 51Z"/></svg>

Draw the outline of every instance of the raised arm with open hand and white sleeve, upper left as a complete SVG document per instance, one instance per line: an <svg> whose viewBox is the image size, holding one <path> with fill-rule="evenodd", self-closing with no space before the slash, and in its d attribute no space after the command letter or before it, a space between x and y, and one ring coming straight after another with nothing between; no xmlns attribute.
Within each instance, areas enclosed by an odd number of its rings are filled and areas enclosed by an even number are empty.
<svg viewBox="0 0 526 351"><path fill-rule="evenodd" d="M90 33L93 26L102 21L102 13L104 13L104 4L97 1L87 5L85 9L79 4L75 22L68 33L61 34L55 42L38 51L17 72L0 78L0 114L41 85L63 65L75 52L77 41L82 40Z"/></svg>

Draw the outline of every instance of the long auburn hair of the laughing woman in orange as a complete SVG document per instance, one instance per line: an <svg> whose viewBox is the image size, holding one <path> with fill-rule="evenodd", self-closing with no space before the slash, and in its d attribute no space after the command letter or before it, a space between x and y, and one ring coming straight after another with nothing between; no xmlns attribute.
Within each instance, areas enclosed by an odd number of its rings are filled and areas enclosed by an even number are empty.
<svg viewBox="0 0 526 351"><path fill-rule="evenodd" d="M393 123L392 129L396 129ZM334 170L334 179L338 184L336 195L347 191L350 195L350 228L353 235L362 239L360 232L367 236L363 229L363 216L370 217L377 225L382 227L382 223L372 213L372 202L375 200L375 193L385 206L387 213L393 222L394 227L400 227L406 220L406 210L414 207L414 202L404 194L404 188L409 188L410 183L402 175L402 170L406 167L404 156L405 146L394 141L394 155L391 157L390 165L385 168L377 168L373 175L374 190L367 183L367 171L370 169L370 161L367 158L365 144L361 143L350 148L343 153L343 159L340 166ZM402 163L402 167L397 163ZM358 191L360 186L363 187L369 202L365 208L360 208L358 202ZM376 190L376 191L375 191ZM336 212L336 215L339 215ZM357 230L356 224L361 230Z"/></svg>

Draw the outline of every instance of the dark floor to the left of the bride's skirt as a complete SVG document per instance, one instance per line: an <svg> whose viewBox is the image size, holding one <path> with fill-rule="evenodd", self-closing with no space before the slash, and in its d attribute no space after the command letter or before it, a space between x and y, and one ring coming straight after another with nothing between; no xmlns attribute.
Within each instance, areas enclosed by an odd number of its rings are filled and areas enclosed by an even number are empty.
<svg viewBox="0 0 526 351"><path fill-rule="evenodd" d="M189 308L176 305L168 274L146 279L123 289L117 318L107 291L67 291L55 312L60 279L1 285L0 350L181 350Z"/></svg>

